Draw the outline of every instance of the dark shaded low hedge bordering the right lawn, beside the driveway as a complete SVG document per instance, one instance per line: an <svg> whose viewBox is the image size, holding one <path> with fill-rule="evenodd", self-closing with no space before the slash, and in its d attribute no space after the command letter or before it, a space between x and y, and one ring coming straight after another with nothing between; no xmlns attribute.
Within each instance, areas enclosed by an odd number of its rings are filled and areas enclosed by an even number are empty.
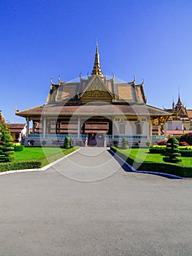
<svg viewBox="0 0 192 256"><path fill-rule="evenodd" d="M118 154L123 160L125 160L129 165L134 163L138 165L137 170L147 170L158 173L168 173L175 176L180 176L183 178L192 178L192 167L190 166L181 166L181 165L172 165L171 163L158 163L158 162L137 162L134 159L129 158L128 156L120 153L118 148L110 147L112 151Z"/></svg>

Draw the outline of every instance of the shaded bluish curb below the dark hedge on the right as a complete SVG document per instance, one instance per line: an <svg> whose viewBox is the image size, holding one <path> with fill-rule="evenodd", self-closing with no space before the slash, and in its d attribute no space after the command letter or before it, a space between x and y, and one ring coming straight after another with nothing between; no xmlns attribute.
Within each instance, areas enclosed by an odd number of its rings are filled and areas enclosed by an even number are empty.
<svg viewBox="0 0 192 256"><path fill-rule="evenodd" d="M112 154L115 154L115 157L118 157L118 159L120 159L124 165L127 165L128 168L134 172L134 173L147 173L147 174L154 174L154 175L158 175L158 176L163 176L163 177L166 177L166 178L177 178L177 179L191 179L191 178L183 178L183 177L180 177L180 176L176 176L176 175L173 175L173 174L169 174L169 173L158 173L158 172L153 172L153 171L150 171L150 170L136 170L134 169L134 167L132 167L131 165L129 165L123 158L119 157L118 154L116 154L114 151L112 151L110 149L110 152L112 152Z"/></svg>

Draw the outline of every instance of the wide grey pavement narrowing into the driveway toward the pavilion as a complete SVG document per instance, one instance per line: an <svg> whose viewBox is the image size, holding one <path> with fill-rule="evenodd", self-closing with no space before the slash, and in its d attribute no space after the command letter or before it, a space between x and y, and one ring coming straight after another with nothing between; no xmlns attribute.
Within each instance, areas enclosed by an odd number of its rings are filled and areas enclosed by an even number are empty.
<svg viewBox="0 0 192 256"><path fill-rule="evenodd" d="M1 176L0 255L191 256L191 182L126 173L104 148Z"/></svg>

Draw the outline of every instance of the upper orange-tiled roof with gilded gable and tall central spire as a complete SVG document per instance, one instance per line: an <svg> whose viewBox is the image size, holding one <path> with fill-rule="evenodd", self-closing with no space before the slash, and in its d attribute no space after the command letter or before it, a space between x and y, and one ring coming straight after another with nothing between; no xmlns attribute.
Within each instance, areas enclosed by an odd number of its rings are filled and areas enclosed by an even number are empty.
<svg viewBox="0 0 192 256"><path fill-rule="evenodd" d="M104 101L112 104L146 104L142 83L137 84L134 78L131 82L122 82L104 76L99 62L99 49L96 43L96 55L93 71L88 77L79 81L64 82L58 78L58 84L51 80L48 104L84 104L86 102Z"/></svg>

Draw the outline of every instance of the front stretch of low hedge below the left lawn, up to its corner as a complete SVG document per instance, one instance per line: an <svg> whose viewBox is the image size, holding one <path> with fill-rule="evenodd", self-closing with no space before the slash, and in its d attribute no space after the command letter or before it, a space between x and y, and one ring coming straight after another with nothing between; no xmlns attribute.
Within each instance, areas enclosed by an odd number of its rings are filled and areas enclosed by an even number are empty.
<svg viewBox="0 0 192 256"><path fill-rule="evenodd" d="M4 162L0 163L0 172L40 168L41 165L41 161Z"/></svg>

